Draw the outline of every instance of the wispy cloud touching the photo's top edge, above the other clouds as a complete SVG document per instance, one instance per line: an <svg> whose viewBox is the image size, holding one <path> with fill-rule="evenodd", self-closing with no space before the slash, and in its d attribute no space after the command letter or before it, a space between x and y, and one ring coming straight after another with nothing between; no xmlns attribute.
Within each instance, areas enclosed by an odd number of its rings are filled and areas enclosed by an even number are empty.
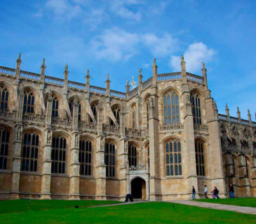
<svg viewBox="0 0 256 224"><path fill-rule="evenodd" d="M133 12L131 9L129 9L129 6L132 5L138 5L140 4L140 1L138 0L112 0L109 1L111 5L111 11L113 13L116 13L123 19L129 19L129 20L141 20L141 13L140 12Z"/></svg>

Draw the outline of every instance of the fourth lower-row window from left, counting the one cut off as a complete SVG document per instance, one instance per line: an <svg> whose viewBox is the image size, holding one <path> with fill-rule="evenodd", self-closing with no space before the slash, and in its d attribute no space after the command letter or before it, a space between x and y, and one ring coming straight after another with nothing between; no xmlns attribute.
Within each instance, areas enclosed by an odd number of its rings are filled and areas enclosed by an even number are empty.
<svg viewBox="0 0 256 224"><path fill-rule="evenodd" d="M79 141L79 163L81 175L92 175L92 141Z"/></svg>

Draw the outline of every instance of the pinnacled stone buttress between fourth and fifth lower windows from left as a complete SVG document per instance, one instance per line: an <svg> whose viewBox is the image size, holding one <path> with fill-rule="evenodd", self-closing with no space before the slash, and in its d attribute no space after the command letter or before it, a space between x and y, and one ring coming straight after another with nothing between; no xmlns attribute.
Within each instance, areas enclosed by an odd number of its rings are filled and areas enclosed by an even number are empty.
<svg viewBox="0 0 256 224"><path fill-rule="evenodd" d="M97 108L97 129L98 136L96 140L95 153L95 179L96 179L96 200L106 200L106 165L104 161L104 134L102 132L102 102L99 102Z"/></svg>

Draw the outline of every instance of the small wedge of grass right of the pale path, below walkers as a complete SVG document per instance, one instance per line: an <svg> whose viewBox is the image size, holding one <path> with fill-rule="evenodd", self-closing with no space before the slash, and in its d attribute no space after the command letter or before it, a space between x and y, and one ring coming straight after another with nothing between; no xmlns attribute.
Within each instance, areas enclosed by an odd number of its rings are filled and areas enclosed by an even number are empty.
<svg viewBox="0 0 256 224"><path fill-rule="evenodd" d="M256 198L223 198L223 199L198 199L198 202L211 202L218 204L227 204L227 205L239 205L239 206L248 206L256 207Z"/></svg>

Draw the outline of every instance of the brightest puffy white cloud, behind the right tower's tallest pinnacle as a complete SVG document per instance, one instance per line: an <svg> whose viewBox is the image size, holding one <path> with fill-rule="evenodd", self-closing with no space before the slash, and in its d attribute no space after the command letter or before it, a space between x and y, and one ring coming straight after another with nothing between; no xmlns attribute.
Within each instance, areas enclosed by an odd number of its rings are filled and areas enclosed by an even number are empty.
<svg viewBox="0 0 256 224"><path fill-rule="evenodd" d="M196 72L201 67L201 62L211 61L213 56L217 54L214 49L209 49L202 42L196 42L188 46L184 52L184 60L186 61L186 70L188 72ZM170 65L175 71L180 70L180 56L172 56Z"/></svg>

